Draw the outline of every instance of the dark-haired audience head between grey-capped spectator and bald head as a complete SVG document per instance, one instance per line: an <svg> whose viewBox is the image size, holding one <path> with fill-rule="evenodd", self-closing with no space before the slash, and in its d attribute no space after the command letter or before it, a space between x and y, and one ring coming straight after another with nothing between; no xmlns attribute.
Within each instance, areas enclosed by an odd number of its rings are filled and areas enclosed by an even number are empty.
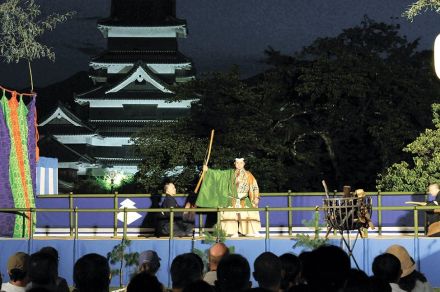
<svg viewBox="0 0 440 292"><path fill-rule="evenodd" d="M183 289L202 279L203 264L200 263L200 257L198 258L193 253L184 253L174 258L170 270L173 288Z"/></svg>

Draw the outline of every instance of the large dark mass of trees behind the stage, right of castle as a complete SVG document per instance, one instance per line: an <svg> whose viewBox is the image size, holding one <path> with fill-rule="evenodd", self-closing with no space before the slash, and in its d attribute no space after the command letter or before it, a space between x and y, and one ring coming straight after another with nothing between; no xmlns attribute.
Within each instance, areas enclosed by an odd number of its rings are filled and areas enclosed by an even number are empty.
<svg viewBox="0 0 440 292"><path fill-rule="evenodd" d="M269 48L264 74L242 80L233 68L179 86L177 100L198 98L190 115L136 139L144 185L182 166L175 178L191 189L215 129L210 167L244 156L264 191L321 190L322 179L334 189L375 187L431 122L424 113L440 88L417 44L365 17L293 55Z"/></svg>

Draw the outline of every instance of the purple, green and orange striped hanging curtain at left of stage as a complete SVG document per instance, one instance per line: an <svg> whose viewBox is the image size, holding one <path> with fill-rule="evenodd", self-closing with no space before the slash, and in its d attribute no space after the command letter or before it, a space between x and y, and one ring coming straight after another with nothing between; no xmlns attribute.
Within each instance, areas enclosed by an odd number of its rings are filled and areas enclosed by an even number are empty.
<svg viewBox="0 0 440 292"><path fill-rule="evenodd" d="M20 95L18 100L17 92L11 91L11 97L8 99L3 90L0 100L0 137L2 146L6 146L0 151L4 158L0 160L0 196L1 206L5 208L35 208L35 95L30 98L31 101L26 106L23 96ZM3 214L0 217L3 235L29 237L35 229L36 215L30 212L14 214Z"/></svg>

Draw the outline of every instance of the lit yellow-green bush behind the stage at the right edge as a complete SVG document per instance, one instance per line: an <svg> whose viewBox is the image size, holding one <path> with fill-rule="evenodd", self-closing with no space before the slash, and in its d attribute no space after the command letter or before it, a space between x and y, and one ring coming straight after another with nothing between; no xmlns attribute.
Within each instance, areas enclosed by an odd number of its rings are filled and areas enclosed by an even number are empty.
<svg viewBox="0 0 440 292"><path fill-rule="evenodd" d="M440 104L433 104L432 111L435 129L426 129L403 148L411 154L412 161L395 163L386 169L379 176L379 189L423 192L430 183L440 182Z"/></svg>

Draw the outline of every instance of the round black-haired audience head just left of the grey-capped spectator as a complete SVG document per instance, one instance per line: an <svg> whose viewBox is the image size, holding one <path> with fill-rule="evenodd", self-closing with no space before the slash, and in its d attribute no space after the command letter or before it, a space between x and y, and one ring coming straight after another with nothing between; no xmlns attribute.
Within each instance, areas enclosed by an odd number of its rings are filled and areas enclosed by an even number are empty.
<svg viewBox="0 0 440 292"><path fill-rule="evenodd" d="M79 292L108 292L110 266L102 255L89 253L76 261L73 282Z"/></svg>

